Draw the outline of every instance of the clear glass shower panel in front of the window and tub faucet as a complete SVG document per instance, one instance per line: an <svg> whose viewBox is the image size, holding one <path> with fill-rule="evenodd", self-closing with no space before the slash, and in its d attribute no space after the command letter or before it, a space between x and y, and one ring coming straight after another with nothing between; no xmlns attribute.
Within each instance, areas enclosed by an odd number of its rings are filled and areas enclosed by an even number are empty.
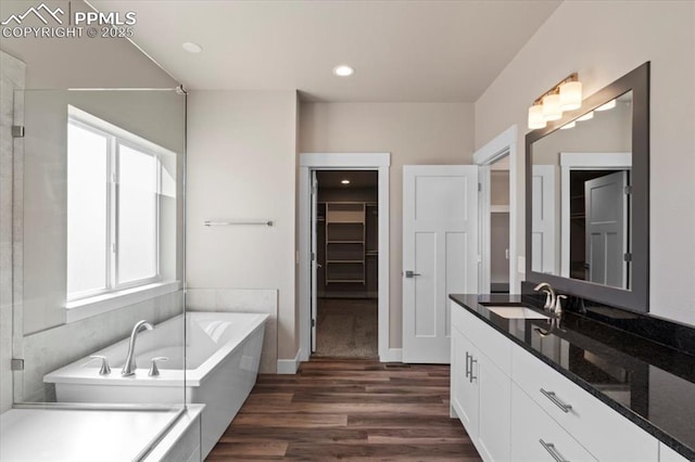
<svg viewBox="0 0 695 462"><path fill-rule="evenodd" d="M148 371L153 357L185 363L186 97L31 89L14 100L24 104L14 117L24 137L12 143L2 216L15 230L15 406L181 408L184 368L161 367L164 388ZM118 387L140 320L154 329L137 334L136 373Z"/></svg>

